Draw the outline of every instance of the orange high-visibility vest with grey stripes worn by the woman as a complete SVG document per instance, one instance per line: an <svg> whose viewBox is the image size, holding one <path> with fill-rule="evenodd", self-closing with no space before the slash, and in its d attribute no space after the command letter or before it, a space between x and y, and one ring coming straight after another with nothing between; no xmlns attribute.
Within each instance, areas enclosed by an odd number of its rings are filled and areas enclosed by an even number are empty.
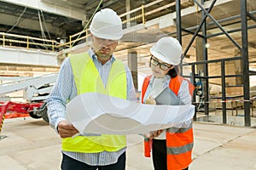
<svg viewBox="0 0 256 170"><path fill-rule="evenodd" d="M144 94L148 88L151 76L144 79L142 88L142 103ZM181 83L184 79L177 76L169 82L169 88L177 95ZM189 81L188 81L189 82ZM193 96L194 86L189 82L189 94ZM170 127L166 129L166 153L167 170L181 170L189 167L192 159L192 148L194 144L192 123L189 127L177 128ZM152 140L144 140L144 156L150 157Z"/></svg>

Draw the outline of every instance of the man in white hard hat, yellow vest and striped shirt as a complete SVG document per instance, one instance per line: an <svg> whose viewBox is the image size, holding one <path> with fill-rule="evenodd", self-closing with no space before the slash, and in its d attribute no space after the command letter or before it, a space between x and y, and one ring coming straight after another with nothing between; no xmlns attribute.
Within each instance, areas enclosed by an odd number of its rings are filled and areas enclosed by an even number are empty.
<svg viewBox="0 0 256 170"><path fill-rule="evenodd" d="M124 135L73 137L79 131L67 122L66 104L79 94L96 92L136 100L131 71L113 56L123 36L119 16L112 9L102 9L95 14L90 32L92 47L89 51L73 54L61 65L47 100L50 126L62 139L61 169L125 170Z"/></svg>

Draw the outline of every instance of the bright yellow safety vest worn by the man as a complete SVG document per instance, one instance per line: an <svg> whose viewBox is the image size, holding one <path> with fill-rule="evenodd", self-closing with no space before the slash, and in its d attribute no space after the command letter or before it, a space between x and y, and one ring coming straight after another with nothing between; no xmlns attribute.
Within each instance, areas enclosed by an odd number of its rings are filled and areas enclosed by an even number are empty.
<svg viewBox="0 0 256 170"><path fill-rule="evenodd" d="M74 54L70 56L70 62L78 95L97 92L126 99L127 82L125 65L119 59L115 59L113 62L106 88L89 54ZM62 139L62 150L83 153L96 153L102 152L103 150L117 151L123 149L125 146L125 135L102 134L100 136L78 136Z"/></svg>

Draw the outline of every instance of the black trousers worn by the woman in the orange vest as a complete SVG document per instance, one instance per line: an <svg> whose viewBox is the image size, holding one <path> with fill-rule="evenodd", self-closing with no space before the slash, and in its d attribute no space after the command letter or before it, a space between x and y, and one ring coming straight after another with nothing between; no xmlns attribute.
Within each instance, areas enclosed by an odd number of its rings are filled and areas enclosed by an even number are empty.
<svg viewBox="0 0 256 170"><path fill-rule="evenodd" d="M152 156L154 170L167 170L166 140L153 139ZM183 170L189 170L189 167Z"/></svg>

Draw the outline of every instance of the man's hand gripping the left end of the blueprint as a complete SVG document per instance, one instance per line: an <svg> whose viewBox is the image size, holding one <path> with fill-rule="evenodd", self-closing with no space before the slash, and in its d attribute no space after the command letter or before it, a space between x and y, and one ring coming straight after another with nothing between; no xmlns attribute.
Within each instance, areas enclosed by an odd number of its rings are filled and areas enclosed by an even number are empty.
<svg viewBox="0 0 256 170"><path fill-rule="evenodd" d="M73 127L72 124L70 124L67 121L59 122L58 131L59 131L61 138L72 137L73 135L79 133L79 131L75 127Z"/></svg>

